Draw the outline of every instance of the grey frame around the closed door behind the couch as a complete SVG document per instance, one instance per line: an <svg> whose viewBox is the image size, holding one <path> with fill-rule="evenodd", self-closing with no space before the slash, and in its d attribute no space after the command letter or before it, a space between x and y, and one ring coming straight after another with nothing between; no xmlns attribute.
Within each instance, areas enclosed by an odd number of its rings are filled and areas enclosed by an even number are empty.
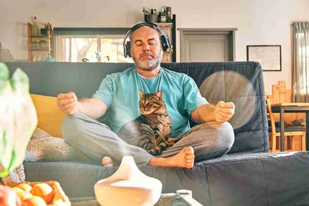
<svg viewBox="0 0 309 206"><path fill-rule="evenodd" d="M238 28L177 28L180 31L180 62L184 59L184 54L181 50L184 50L184 35L190 34L227 34L230 37L230 58L229 61L235 61L235 31Z"/></svg>

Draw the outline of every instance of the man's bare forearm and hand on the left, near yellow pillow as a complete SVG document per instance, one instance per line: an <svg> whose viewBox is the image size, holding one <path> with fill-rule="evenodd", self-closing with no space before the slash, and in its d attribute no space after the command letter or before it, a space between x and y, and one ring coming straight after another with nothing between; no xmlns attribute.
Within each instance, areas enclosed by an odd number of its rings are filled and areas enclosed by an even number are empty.
<svg viewBox="0 0 309 206"><path fill-rule="evenodd" d="M78 101L74 92L59 94L57 96L57 105L64 113L68 115L73 115L80 112L93 119L100 118L108 109L108 106L96 97Z"/></svg>

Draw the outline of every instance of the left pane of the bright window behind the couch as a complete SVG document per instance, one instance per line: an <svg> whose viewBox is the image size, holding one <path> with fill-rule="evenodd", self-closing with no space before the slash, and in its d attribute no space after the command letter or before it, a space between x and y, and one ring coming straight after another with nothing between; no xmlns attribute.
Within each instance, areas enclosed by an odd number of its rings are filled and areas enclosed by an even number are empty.
<svg viewBox="0 0 309 206"><path fill-rule="evenodd" d="M82 58L87 58L90 62L97 62L95 54L97 48L97 38L62 39L62 57L67 62L82 62Z"/></svg>

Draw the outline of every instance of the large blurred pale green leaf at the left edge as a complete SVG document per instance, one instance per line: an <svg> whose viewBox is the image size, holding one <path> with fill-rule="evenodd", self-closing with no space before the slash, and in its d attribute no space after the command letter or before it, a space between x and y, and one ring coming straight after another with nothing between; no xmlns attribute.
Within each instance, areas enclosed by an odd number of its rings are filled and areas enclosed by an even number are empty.
<svg viewBox="0 0 309 206"><path fill-rule="evenodd" d="M29 94L29 78L17 68L10 78L0 63L0 177L20 165L36 128L36 109Z"/></svg>

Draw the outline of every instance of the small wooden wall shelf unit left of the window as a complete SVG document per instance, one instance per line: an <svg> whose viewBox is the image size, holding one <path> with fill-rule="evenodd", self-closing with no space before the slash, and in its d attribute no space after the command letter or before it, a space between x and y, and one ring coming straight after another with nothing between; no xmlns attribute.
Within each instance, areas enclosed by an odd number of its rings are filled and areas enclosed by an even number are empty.
<svg viewBox="0 0 309 206"><path fill-rule="evenodd" d="M53 52L53 27L48 22L49 30L48 35L32 35L32 24L28 22L28 61L32 61L32 52L33 51L41 51L41 52L48 52L50 55L54 55ZM49 48L31 48L31 42L34 41L34 39L47 39Z"/></svg>

